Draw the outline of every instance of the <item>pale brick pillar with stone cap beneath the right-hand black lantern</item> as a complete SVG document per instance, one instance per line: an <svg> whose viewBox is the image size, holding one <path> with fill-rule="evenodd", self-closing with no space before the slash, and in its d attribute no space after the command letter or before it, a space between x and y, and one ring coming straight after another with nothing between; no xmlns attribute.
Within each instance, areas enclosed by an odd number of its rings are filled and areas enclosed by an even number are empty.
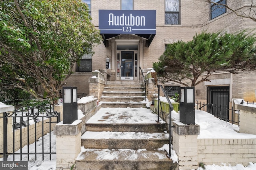
<svg viewBox="0 0 256 170"><path fill-rule="evenodd" d="M180 121L173 121L172 146L178 156L179 169L191 170L198 168L199 125L185 125Z"/></svg>

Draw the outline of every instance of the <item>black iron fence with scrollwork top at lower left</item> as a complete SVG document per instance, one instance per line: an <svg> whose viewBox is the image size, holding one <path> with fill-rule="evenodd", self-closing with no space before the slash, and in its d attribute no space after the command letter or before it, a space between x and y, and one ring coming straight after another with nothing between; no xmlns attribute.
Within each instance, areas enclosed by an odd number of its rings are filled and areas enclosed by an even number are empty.
<svg viewBox="0 0 256 170"><path fill-rule="evenodd" d="M0 145L0 157L4 160L17 160L17 155L20 160L24 160L22 155L27 155L29 160L30 155L36 160L37 155L56 154L51 149L51 131L56 123L60 122L60 113L54 111L53 105L45 106L22 106L15 109L12 113L2 113L0 119L3 120L3 145ZM1 121L0 121L1 122ZM44 135L49 133L49 143L44 143ZM42 137L42 144L38 149L37 141ZM34 148L30 148L30 144L34 143ZM49 147L45 147L45 145ZM26 149L22 147L27 146ZM17 152L18 150L18 152ZM40 150L40 151L39 151ZM9 158L8 158L9 156Z"/></svg>

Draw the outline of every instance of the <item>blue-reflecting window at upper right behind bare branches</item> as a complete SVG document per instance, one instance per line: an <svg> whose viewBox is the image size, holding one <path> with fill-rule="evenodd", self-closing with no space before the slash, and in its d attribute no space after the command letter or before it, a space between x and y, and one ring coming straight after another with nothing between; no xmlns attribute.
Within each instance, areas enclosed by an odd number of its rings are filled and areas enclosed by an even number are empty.
<svg viewBox="0 0 256 170"><path fill-rule="evenodd" d="M226 0L212 0L212 2L216 2L217 4L226 4ZM223 5L210 5L210 19L214 19L226 12L226 7Z"/></svg>

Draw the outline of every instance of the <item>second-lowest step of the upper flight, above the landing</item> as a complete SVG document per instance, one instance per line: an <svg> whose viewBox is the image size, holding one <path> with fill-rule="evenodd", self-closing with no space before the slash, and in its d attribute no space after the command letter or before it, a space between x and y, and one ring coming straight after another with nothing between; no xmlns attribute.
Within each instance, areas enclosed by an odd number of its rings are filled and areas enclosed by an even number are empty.
<svg viewBox="0 0 256 170"><path fill-rule="evenodd" d="M145 96L101 96L101 102L141 102Z"/></svg>

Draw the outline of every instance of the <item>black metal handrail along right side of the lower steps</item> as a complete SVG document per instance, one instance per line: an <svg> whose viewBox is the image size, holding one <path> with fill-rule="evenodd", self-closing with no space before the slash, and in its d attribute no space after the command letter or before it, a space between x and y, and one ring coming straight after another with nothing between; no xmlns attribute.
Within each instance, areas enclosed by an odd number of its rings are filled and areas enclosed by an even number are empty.
<svg viewBox="0 0 256 170"><path fill-rule="evenodd" d="M169 104L169 157L171 157L171 150L172 150L172 111L173 111L173 106L172 103L169 100L169 97L167 96L164 88L162 85L158 84L158 118L157 118L157 122L159 122L159 103L160 103L160 88L162 89L164 96L167 99L167 102Z"/></svg>

